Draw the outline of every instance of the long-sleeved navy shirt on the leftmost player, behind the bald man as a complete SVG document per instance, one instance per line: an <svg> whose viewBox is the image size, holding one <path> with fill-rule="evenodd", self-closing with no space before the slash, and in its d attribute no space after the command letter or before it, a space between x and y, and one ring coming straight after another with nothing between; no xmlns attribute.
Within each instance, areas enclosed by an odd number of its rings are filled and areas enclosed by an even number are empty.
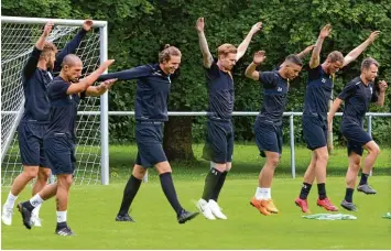
<svg viewBox="0 0 391 251"><path fill-rule="evenodd" d="M82 31L65 45L61 53L56 55L54 73L61 70L61 64L64 57L76 51L85 34L86 31L82 29ZM41 52L42 51L34 47L22 69L22 85L25 99L22 122L48 123L50 121L50 102L46 90L53 76L50 70L44 70L36 66Z"/></svg>

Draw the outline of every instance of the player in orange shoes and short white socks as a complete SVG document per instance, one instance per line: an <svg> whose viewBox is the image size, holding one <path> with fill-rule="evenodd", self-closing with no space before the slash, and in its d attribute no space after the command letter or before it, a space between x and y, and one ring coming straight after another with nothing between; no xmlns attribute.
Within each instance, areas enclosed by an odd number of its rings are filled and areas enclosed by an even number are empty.
<svg viewBox="0 0 391 251"><path fill-rule="evenodd" d="M269 216L279 212L271 197L271 184L282 153L282 116L290 80L298 76L303 64L297 55L289 55L279 70L257 72L257 66L264 58L263 51L257 52L246 69L246 77L263 85L263 106L254 123L254 133L260 155L267 157L259 174L259 187L250 204L262 215Z"/></svg>

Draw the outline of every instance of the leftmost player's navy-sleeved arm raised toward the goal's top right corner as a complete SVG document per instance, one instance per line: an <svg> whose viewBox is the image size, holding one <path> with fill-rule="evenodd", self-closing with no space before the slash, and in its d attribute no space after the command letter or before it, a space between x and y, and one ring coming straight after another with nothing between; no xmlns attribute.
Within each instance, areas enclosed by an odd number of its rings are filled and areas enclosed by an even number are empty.
<svg viewBox="0 0 391 251"><path fill-rule="evenodd" d="M54 63L53 72L59 72L63 59L68 54L74 54L76 48L80 45L83 39L86 36L87 32L89 32L93 28L93 20L86 20L83 23L82 30L72 39L65 47L56 55L56 61Z"/></svg>

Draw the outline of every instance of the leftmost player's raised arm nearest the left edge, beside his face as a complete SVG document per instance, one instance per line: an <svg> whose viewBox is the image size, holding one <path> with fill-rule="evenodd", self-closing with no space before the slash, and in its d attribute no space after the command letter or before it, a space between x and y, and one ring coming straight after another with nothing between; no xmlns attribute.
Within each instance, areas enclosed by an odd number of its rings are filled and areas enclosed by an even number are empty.
<svg viewBox="0 0 391 251"><path fill-rule="evenodd" d="M45 41L51 34L51 31L53 29L53 22L47 22L45 28L43 29L42 35L35 43L35 47L33 48L33 52L29 56L28 62L25 63L22 74L25 79L29 79L35 72L36 65L40 61L41 52L43 50L43 46L45 44Z"/></svg>

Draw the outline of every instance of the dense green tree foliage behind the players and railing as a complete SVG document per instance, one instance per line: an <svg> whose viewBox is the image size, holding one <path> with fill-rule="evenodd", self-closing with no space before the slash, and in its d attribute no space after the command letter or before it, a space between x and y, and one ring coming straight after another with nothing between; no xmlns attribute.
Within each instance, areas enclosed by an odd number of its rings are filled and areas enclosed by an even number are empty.
<svg viewBox="0 0 391 251"><path fill-rule="evenodd" d="M116 58L110 72L156 62L158 53L164 44L177 46L183 58L181 73L172 85L169 105L169 110L172 111L200 111L207 108L207 88L194 29L199 17L205 18L205 33L214 56L220 44L239 45L252 24L263 22L263 31L254 35L248 52L233 72L235 110L258 111L262 103L262 89L259 84L243 76L256 51L267 52L267 62L260 70L271 70L286 55L298 53L315 43L321 28L326 23L333 25L333 33L324 43L322 59L335 50L346 55L362 43L371 31L381 31L374 44L338 73L335 94L338 94L349 79L359 75L360 62L366 56L372 56L380 62L379 78L391 84L391 0L4 0L1 8L6 15L107 20L109 57ZM306 73L303 72L292 85L286 111L302 111L305 83ZM134 92L134 81L116 85L110 92L110 110L132 110ZM372 107L371 110L390 111L390 99L391 91L388 91L387 106ZM254 118L240 117L233 121L236 139L253 141ZM391 145L390 119L373 121L374 139L381 144ZM170 133L166 138L170 139L165 146L173 149L173 152L185 152L177 155L180 159L191 159L193 153L188 145L192 139L203 141L204 122L205 118L172 117L166 126L166 133ZM303 142L300 118L295 119L295 141ZM112 141L133 140L133 118L110 118L110 127ZM343 142L338 133L338 119L334 131L335 140ZM287 127L284 132L287 140Z"/></svg>

